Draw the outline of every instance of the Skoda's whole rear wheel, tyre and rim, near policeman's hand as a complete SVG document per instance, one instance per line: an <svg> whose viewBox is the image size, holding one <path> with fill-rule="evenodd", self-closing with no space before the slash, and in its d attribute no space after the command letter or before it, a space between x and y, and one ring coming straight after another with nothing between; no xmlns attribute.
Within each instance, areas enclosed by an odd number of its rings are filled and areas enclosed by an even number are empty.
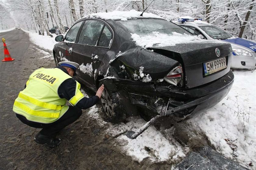
<svg viewBox="0 0 256 170"><path fill-rule="evenodd" d="M126 112L120 104L118 93L109 92L105 86L100 101L103 112L109 122L119 123L126 119Z"/></svg>

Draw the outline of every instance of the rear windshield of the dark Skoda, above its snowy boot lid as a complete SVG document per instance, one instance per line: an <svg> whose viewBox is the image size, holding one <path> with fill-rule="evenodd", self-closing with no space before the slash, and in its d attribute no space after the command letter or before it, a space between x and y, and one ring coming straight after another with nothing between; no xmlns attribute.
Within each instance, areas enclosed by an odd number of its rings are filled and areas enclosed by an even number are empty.
<svg viewBox="0 0 256 170"><path fill-rule="evenodd" d="M121 23L131 33L138 35L147 35L152 32L159 32L167 35L172 35L172 32L192 35L180 26L164 19L128 19L127 21L117 20L116 22Z"/></svg>

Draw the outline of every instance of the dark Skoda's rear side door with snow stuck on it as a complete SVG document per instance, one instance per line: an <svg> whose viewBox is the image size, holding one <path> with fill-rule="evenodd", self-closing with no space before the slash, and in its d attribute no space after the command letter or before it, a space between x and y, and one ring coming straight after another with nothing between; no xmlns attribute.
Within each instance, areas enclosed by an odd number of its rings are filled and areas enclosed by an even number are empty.
<svg viewBox="0 0 256 170"><path fill-rule="evenodd" d="M76 71L90 88L94 87L94 72L109 50L112 31L100 20L87 19L73 48L73 61L80 65Z"/></svg>

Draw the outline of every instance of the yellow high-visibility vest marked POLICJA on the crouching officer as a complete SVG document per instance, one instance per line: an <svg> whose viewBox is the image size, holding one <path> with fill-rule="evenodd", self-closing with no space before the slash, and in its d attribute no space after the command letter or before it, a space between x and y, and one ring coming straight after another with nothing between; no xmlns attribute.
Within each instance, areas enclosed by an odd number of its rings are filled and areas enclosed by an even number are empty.
<svg viewBox="0 0 256 170"><path fill-rule="evenodd" d="M66 79L72 78L59 68L40 68L34 71L14 102L13 111L27 120L39 123L52 123L68 110L66 99L60 98L58 88ZM76 105L84 95L76 82L75 95L69 103Z"/></svg>

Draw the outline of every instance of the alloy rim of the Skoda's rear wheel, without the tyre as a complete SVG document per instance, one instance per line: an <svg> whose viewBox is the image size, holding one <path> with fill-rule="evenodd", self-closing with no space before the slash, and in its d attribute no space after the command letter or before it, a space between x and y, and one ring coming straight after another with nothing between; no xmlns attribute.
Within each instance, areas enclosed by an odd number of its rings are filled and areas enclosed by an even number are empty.
<svg viewBox="0 0 256 170"><path fill-rule="evenodd" d="M112 117L113 115L113 103L110 99L110 96L108 94L108 91L106 89L103 90L101 95L101 104L103 106L103 110L106 113L108 117Z"/></svg>

